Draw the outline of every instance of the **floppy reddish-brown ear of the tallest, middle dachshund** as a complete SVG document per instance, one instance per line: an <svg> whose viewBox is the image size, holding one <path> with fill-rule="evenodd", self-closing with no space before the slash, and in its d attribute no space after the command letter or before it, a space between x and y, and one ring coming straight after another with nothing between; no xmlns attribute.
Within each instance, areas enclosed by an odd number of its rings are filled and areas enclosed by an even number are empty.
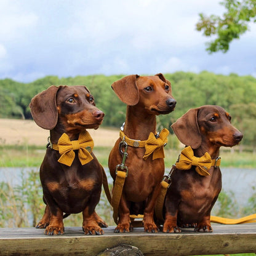
<svg viewBox="0 0 256 256"><path fill-rule="evenodd" d="M130 74L130 76L119 79L111 85L118 98L129 106L136 105L140 99L136 84L139 77L138 74Z"/></svg>

